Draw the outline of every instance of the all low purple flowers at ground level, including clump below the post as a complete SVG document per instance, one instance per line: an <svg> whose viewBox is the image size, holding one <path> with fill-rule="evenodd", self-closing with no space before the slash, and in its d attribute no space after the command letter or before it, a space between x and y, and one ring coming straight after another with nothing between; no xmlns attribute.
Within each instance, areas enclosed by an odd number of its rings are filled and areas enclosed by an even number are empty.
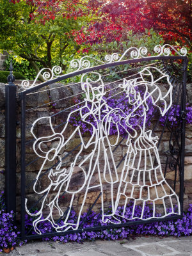
<svg viewBox="0 0 192 256"><path fill-rule="evenodd" d="M1 192L0 195L0 252L4 250L4 252L10 252L16 245L21 246L26 241L22 242L19 239L20 232L17 231L17 227L13 225L13 212L6 213L4 207L4 193ZM128 205L125 209L125 216L127 218L131 217L132 214L132 205ZM110 211L110 210L109 210ZM117 214L124 211L124 207L118 207ZM168 209L171 211L171 209ZM135 216L140 216L141 207L140 205L136 205ZM152 211L150 207L145 206L144 215L145 218L152 216ZM160 217L160 214L158 214ZM43 217L42 217L43 218ZM74 223L76 221L76 212L72 211L70 213L70 221ZM111 218L111 217L109 217ZM127 220L123 220L125 223ZM135 221L135 220L132 220ZM54 237L45 237L43 240L48 241L60 241L62 243L67 243L70 241L76 241L77 243L81 243L85 240L93 241L95 239L107 239L107 240L116 240L116 239L124 239L129 237L130 235L157 235L157 236L190 236L192 234L192 204L189 205L188 212L184 213L182 219L172 220L172 221L161 221L154 222L149 224L142 225L132 225L129 227L122 228L108 228L108 223L103 223L101 220L101 216L99 213L94 211L84 212L81 216L81 223L83 224L83 228L93 227L93 226L106 226L104 230L95 230L95 231L84 231L76 234L67 234L63 236L54 236ZM31 230L33 225L33 219L31 216L26 214L25 217L25 225L26 232ZM60 225L62 225L62 220ZM52 232L52 226L49 221L42 221L40 223L40 230L42 234ZM32 234L36 234L34 231L31 231ZM59 235L59 234L58 234Z"/></svg>

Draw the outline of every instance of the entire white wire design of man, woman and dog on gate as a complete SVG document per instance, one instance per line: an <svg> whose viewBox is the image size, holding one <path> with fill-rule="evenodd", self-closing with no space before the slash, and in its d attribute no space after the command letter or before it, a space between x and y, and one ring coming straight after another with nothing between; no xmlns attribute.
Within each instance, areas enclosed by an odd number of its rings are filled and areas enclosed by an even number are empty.
<svg viewBox="0 0 192 256"><path fill-rule="evenodd" d="M154 72L156 72L156 74L158 72L159 74L157 79L153 76ZM36 216L36 219L33 220L33 227L38 234L41 234L38 229L38 224L46 220L51 222L52 227L57 232L63 230L66 231L68 229L78 229L80 216L83 214L86 196L90 189L93 188L98 188L101 193L102 221L104 223L121 223L122 218L127 219L125 217L125 210L130 201L133 202L133 209L132 216L129 220L135 218L146 220L146 218L143 217L146 204L151 204L153 212L152 217L148 217L148 219L159 218L156 212L158 202L161 202L163 205L163 213L161 214L161 217L166 217L170 214L180 214L179 198L164 179L159 152L157 150L158 137L153 137L151 130L146 131L145 122L143 122L142 125L138 124L137 129L131 125L131 118L135 118L138 115L136 112L138 108L141 109L140 116L143 116L145 120L148 111L147 99L152 100L152 103L159 109L162 116L164 116L168 109L170 109L172 106L173 86L169 81L168 75L161 72L161 70L158 70L158 68L146 67L143 68L141 72L138 72L136 78L129 80L124 79L122 83L119 83L118 87L126 93L126 97L129 99L129 104L134 106L134 110L132 110L129 115L125 115L122 109L111 108L108 106L106 100L104 100L106 92L104 92L104 83L100 74L96 72L90 72L89 74L98 76L98 79L97 81L93 81L87 76L88 74L84 74L81 77L81 88L86 95L84 105L79 109L71 111L68 115L65 127L60 133L54 131L51 117L49 116L38 118L31 127L31 133L35 138L33 150L37 156L43 160L33 189L35 193L39 195L44 195L44 193L46 193L42 200L42 205L36 213L31 213L28 210L28 200L26 199L26 212L31 216ZM161 92L158 85L159 81L163 78L166 79L168 83L168 89L164 94ZM97 83L96 86L94 86L95 83ZM143 87L143 95L136 90L138 86ZM161 102L161 104L159 104L159 102ZM84 112L85 108L88 109L88 111ZM92 128L92 134L88 141L84 140L80 126L77 126L68 138L65 138L63 135L68 129L70 117L77 111L82 122L84 122L85 125L90 125ZM105 114L103 117L101 116L101 112ZM90 119L93 120L93 122L90 122ZM51 133L49 136L38 138L35 135L35 127L38 124L46 123L47 120L49 121ZM109 140L111 124L116 125L116 140L113 141L113 143ZM116 147L120 139L119 125L124 129L126 134L125 145L127 148L124 164L120 169L120 176L118 176L118 167L115 164L112 150L112 147ZM76 136L76 138L79 136L81 146L74 157L74 160L70 164L70 168L65 168L65 164L62 163L60 154L63 150L65 151L65 146L72 140L72 138L74 138L74 136ZM44 148L44 143L47 142L49 142L49 145L52 145L49 150L45 150ZM88 150L89 148L90 150ZM80 163L77 162L78 157L85 149L88 150L89 153L80 161ZM104 159L104 164L102 164L102 166L100 165L100 158ZM49 184L47 185L47 188L44 188L39 192L37 184L38 180L40 179L43 170L45 170L46 164L55 159L58 159L58 163L54 164L49 172L47 172ZM112 161L109 161L109 159L112 159ZM76 188L73 183L74 173L76 173L77 170L82 173L83 183L80 188ZM91 181L96 175L99 176L99 182L97 182L97 184L92 184ZM108 189L111 191L111 198L109 198L111 202L110 213L104 207L105 190L103 182L108 183ZM117 186L117 190L114 189L115 186ZM55 193L48 203L47 198L52 191L55 191ZM74 197L80 195L82 191L83 200L77 213L77 221L76 223L72 223L69 221L69 216L72 211ZM65 195L68 195L67 198L70 198L68 201L67 214L63 212L61 205L59 204L59 197L63 192L65 192ZM136 194L138 195L137 197L135 196ZM169 200L172 209L169 212L166 211L167 200ZM141 215L135 216L135 206L139 201L142 207ZM173 207L175 201L178 206L177 210ZM122 214L119 214L118 212L120 204L124 205L124 212ZM49 209L49 211L47 209ZM63 217L62 224L58 225L56 220L54 220L53 210L57 211L60 216L65 216Z"/></svg>

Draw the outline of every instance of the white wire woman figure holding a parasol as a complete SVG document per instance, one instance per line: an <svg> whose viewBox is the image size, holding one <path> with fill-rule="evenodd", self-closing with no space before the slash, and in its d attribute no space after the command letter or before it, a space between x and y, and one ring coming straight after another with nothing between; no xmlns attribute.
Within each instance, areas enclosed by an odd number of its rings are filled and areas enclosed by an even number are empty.
<svg viewBox="0 0 192 256"><path fill-rule="evenodd" d="M158 73L158 79L154 79L154 73L156 75ZM164 95L157 84L163 78L166 78L169 86ZM136 90L140 86L144 90L143 97ZM143 219L145 205L151 204L153 214L148 219L159 218L156 208L158 204L163 205L161 217L168 216L169 214L180 214L179 198L164 179L162 172L159 152L156 146L159 138L157 136L152 137L152 131L146 131L145 129L146 114L148 111L147 99L152 100L152 104L159 108L162 116L172 106L173 86L169 81L169 76L156 67L147 67L143 68L140 72L140 77L129 81L124 80L124 84L120 84L120 87L124 88L129 99L129 104L134 107L127 116L127 125L132 126L130 120L136 117L136 115L143 116L143 122L142 125L138 124L135 138L128 138L127 140L127 157L124 162L118 187L118 197L115 204L116 211L119 205L124 205L124 211L122 214L119 214L117 211L116 215L127 220L134 218ZM139 108L142 109L140 114L138 114ZM173 207L174 200L177 202L178 209L174 209ZM131 217L129 216L128 218L126 215L126 206L129 203L132 203L133 208ZM172 211L166 211L166 203L170 205ZM136 205L141 205L142 210L140 216L136 216Z"/></svg>

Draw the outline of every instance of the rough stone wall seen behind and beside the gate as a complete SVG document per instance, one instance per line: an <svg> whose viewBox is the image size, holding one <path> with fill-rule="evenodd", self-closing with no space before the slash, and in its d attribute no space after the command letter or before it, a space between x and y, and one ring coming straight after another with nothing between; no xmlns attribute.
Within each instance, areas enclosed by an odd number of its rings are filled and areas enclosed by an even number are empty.
<svg viewBox="0 0 192 256"><path fill-rule="evenodd" d="M1 99L0 99L0 148L1 148L1 156L0 156L0 170L2 171L0 173L0 189L4 189L4 145L5 145L5 134L4 134L4 88L6 85L0 84L0 93L1 93ZM49 89L55 88L55 87L60 87L63 86L63 84L52 84L49 86ZM191 85L188 85L188 92L190 92ZM19 90L18 90L19 92ZM26 102L26 108L28 109L27 114L26 114L26 141L28 146L26 147L26 164L31 163L27 166L26 168L26 184L29 185L26 188L26 196L29 198L29 205L33 204L35 200L38 199L38 195L35 195L33 193L33 180L36 179L36 175L40 168L42 168L42 178L38 179L38 182L36 183L36 189L40 191L44 191L44 189L47 187L47 184L49 184L50 179L46 174L47 168L51 168L52 164L56 163L55 160L54 162L46 162L44 166L42 167L42 159L38 159L37 161L34 161L36 159L36 155L33 152L33 136L30 132L31 129L31 124L37 119L41 118L42 116L52 116L54 113L61 111L62 109L67 108L70 106L72 102L70 100L59 100L56 103L56 106L52 105L45 105L48 104L52 99L57 100L57 99L62 99L64 97L70 97L70 95L76 95L80 92L80 89L75 88L74 86L68 86L66 88L62 88L60 90L50 90L49 93L47 92L42 92L42 93L37 93L37 94L32 94L27 97L27 102ZM190 99L190 97L189 97ZM190 99L191 100L191 99ZM74 102L73 102L74 103ZM40 106L39 108L36 108L36 106ZM43 106L42 106L43 105ZM33 109L35 108L35 109ZM68 112L62 113L62 115L54 116L51 119L51 123L53 127L56 127L58 124L62 124L63 121L66 120L68 113L70 113L70 110ZM56 132L61 132L62 130L62 125L58 128L56 128ZM52 136L51 130L50 130L50 124L49 120L44 118L39 121L39 124L37 123L34 126L34 131L36 132L36 136L42 137L42 136ZM74 131L74 127L70 125L68 129L64 132L64 137L65 140L70 136L70 134ZM160 130L157 129L156 135L159 136ZM164 157L163 157L163 152L168 149L168 132L166 131L164 133L163 137L163 143L161 143L161 147L159 148L159 152L161 154L161 161L164 163ZM90 140L90 136L84 134L83 140L88 141ZM110 136L109 138L110 141L115 141L115 136ZM120 137L119 140L122 140ZM71 150L77 147L81 140L78 138L78 136L74 136L73 140L70 141L70 143L67 143L65 146L61 157L66 156ZM55 138L52 143L55 143L57 145L58 143L58 138ZM45 150L46 148L50 147L50 143L45 143ZM120 159L125 155L127 145L122 143L122 145L116 150L115 152L115 164L118 164ZM90 154L92 148L84 148L81 154L79 154L79 157L76 161L76 164L79 164L84 161L84 165L89 164L88 161L86 160L86 157L88 154ZM72 159L76 157L78 153L78 150L74 150L70 156L65 157L65 161L62 161L61 167L65 166L65 168L68 170L70 168L70 164L72 163ZM94 157L93 157L94 159ZM100 157L99 159L100 164L104 164L104 159ZM111 163L112 164L112 163ZM192 125L186 125L186 158L185 158L185 182L184 182L184 209L188 208L189 204L192 204ZM164 167L163 167L164 168ZM122 164L118 168L118 175L120 175L122 169ZM108 179L108 175L106 175L106 179ZM81 188L83 184L83 172L79 170L79 168L76 166L76 172L74 172L74 177L72 179L72 182L70 182L71 189L78 189ZM169 170L168 173L166 174L166 179L168 180L169 184L173 186L173 180L175 178L175 173L172 170ZM98 173L96 173L91 180L91 184L99 184L99 177ZM63 185L63 191L65 190L66 184ZM104 202L105 202L105 207L109 207L111 205L111 195L110 195L110 185L107 182L103 182L104 189L106 193L104 193ZM115 187L113 188L115 189ZM116 188L117 189L117 188ZM176 191L179 192L179 176L177 172L177 183L176 183ZM49 193L49 196L47 196L47 201L50 202L52 200L52 197L56 195L57 191L54 190L52 193ZM89 189L88 195L86 196L86 207L90 207L92 202L97 198L97 196L100 193L100 188L93 188ZM135 193L139 193L139 191L135 191ZM151 193L155 193L155 191L151 191ZM61 204L67 204L67 201L70 199L70 194L66 194L63 196L61 199ZM135 195L137 196L137 195ZM74 200L74 204L76 205L78 209L78 205L81 205L83 202L84 198L84 191L82 193L77 193L76 198ZM31 202L30 202L31 201ZM97 202L100 205L100 199ZM160 202L161 204L161 202ZM19 211L19 205L20 205L20 101L18 97L18 104L17 104L17 211Z"/></svg>

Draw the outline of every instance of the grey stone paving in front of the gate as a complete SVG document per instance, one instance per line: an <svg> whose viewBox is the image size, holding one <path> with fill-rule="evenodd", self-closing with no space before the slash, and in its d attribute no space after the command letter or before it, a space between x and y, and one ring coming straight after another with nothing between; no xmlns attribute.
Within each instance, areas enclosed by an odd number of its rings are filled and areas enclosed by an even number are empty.
<svg viewBox="0 0 192 256"><path fill-rule="evenodd" d="M4 256L6 253L1 253ZM10 256L192 256L192 236L137 237L130 240L67 243L31 241Z"/></svg>

